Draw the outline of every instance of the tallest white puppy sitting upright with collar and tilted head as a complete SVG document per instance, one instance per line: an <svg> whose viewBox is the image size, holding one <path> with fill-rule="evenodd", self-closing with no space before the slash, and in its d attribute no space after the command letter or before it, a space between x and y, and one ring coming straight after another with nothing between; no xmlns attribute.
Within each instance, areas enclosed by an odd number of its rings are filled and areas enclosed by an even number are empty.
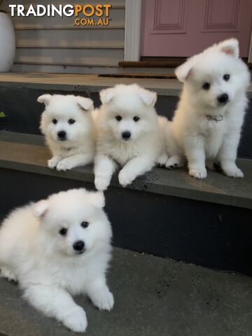
<svg viewBox="0 0 252 336"><path fill-rule="evenodd" d="M231 38L212 45L175 73L184 85L170 125L175 144L169 163L183 165L186 158L190 176L197 179L206 178L206 166L213 169L215 163L225 175L243 177L235 161L250 76L239 58L238 41Z"/></svg>

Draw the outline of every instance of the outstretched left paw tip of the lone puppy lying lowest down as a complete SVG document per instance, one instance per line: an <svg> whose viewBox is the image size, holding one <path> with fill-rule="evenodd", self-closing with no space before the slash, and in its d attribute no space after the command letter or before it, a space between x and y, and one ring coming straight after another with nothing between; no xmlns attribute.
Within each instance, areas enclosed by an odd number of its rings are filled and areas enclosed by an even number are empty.
<svg viewBox="0 0 252 336"><path fill-rule="evenodd" d="M71 313L64 318L63 321L66 328L74 332L85 332L87 329L87 316L83 308L73 309Z"/></svg>

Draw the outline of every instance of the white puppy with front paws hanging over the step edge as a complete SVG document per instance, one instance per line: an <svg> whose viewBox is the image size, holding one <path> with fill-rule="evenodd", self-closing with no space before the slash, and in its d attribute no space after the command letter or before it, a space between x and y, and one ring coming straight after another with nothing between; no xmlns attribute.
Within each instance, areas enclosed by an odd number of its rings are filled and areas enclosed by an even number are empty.
<svg viewBox="0 0 252 336"><path fill-rule="evenodd" d="M139 85L116 85L100 92L97 116L95 186L106 190L118 165L122 186L150 171L163 159L162 137L154 109L157 94Z"/></svg>

